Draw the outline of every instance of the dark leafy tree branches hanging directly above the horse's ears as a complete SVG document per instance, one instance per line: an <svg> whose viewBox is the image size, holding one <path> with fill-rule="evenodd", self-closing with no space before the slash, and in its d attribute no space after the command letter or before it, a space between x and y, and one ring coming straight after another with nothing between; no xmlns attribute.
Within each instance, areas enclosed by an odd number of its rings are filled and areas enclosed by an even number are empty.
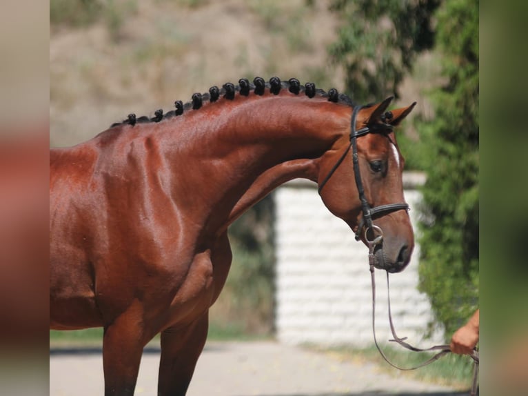
<svg viewBox="0 0 528 396"><path fill-rule="evenodd" d="M437 0L332 1L343 23L329 52L345 67L352 98L366 103L398 97L398 84L416 55L433 44L431 15L437 7Z"/></svg>

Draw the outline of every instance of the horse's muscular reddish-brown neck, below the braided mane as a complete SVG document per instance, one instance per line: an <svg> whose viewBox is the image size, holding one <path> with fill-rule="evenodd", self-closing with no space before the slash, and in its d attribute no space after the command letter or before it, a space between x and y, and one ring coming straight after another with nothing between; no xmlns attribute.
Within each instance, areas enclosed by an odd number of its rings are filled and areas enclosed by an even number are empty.
<svg viewBox="0 0 528 396"><path fill-rule="evenodd" d="M237 97L167 121L156 132L169 148L165 161L177 185L189 186L175 200L201 206L213 229L227 228L285 181L316 180L317 159L347 134L350 113L324 98Z"/></svg>

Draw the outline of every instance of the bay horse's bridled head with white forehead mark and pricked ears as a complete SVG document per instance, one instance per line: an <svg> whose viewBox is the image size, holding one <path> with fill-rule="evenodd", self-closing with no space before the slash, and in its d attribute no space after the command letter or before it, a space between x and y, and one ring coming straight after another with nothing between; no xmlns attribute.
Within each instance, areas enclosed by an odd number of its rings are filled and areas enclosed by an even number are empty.
<svg viewBox="0 0 528 396"><path fill-rule="evenodd" d="M374 241L374 266L397 273L409 264L414 233L393 128L416 103L386 111L390 101L353 109L350 135L321 157L318 185L325 206L346 221L356 239Z"/></svg>

